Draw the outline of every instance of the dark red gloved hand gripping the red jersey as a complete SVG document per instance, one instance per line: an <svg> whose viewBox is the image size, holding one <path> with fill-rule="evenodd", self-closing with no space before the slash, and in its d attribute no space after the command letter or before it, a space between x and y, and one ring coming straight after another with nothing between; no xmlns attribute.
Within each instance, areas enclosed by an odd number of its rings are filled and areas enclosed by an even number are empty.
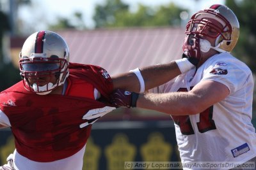
<svg viewBox="0 0 256 170"><path fill-rule="evenodd" d="M115 106L125 106L127 108L135 108L139 94L129 92L123 89L116 89L110 95L110 102Z"/></svg>

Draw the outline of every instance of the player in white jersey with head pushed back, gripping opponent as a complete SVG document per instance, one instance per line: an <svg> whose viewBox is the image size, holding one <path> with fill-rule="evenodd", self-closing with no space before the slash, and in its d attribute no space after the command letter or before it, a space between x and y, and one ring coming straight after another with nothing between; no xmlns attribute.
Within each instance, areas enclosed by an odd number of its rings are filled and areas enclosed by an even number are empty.
<svg viewBox="0 0 256 170"><path fill-rule="evenodd" d="M149 93L113 93L118 106L171 115L184 169L200 169L200 162L202 169L245 162L256 168L252 71L230 54L238 38L239 22L227 6L198 11L186 26L183 45L184 53L199 60L195 68Z"/></svg>

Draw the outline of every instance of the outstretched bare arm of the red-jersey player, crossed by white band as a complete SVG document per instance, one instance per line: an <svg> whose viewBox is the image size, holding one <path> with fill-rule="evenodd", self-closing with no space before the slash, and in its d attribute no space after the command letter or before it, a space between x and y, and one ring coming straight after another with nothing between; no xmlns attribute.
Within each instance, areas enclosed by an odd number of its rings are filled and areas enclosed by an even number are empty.
<svg viewBox="0 0 256 170"><path fill-rule="evenodd" d="M180 74L180 69L175 61L168 64L159 64L140 68L141 76L145 83L145 90L162 85ZM129 72L111 76L114 89L125 89L140 92L140 81L136 74Z"/></svg>

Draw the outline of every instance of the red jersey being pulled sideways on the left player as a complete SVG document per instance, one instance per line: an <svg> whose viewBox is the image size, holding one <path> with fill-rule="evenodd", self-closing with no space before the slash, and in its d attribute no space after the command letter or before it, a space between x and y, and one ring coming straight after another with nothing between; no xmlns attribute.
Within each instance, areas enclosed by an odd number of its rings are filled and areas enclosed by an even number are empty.
<svg viewBox="0 0 256 170"><path fill-rule="evenodd" d="M111 106L95 101L93 90L108 99L113 84L108 73L97 66L70 63L65 95L39 96L24 89L22 81L0 94L0 109L12 125L15 147L36 162L64 159L86 144L93 120L83 120L92 109ZM79 125L89 125L80 128Z"/></svg>

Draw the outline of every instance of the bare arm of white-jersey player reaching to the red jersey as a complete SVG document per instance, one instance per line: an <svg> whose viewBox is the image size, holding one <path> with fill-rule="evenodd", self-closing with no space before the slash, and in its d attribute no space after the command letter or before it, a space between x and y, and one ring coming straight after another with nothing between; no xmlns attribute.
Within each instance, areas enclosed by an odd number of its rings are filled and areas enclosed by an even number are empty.
<svg viewBox="0 0 256 170"><path fill-rule="evenodd" d="M226 85L205 80L189 92L140 94L136 106L172 115L195 115L222 101L228 94L229 90Z"/></svg>

